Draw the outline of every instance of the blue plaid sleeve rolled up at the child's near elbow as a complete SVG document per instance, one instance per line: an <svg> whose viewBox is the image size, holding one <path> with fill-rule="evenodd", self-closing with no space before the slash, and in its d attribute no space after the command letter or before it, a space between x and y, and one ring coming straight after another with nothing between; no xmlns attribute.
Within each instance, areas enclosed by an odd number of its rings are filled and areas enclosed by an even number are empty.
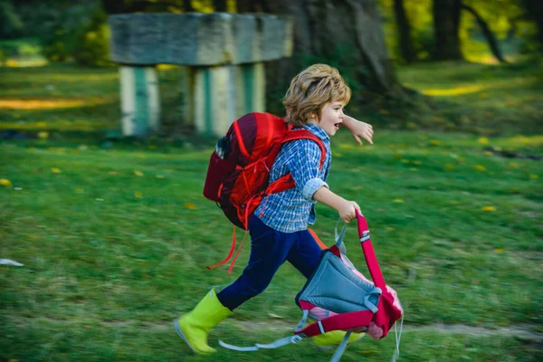
<svg viewBox="0 0 543 362"><path fill-rule="evenodd" d="M304 199L313 201L313 194L328 184L319 177L321 150L310 139L299 139L286 145L289 152L287 167L296 184L296 189Z"/></svg>

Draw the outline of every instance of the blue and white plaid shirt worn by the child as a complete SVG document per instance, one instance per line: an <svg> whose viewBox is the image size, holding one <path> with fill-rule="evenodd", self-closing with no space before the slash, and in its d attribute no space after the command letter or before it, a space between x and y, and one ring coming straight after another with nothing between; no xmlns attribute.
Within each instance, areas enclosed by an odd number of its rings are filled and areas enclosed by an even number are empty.
<svg viewBox="0 0 543 362"><path fill-rule="evenodd" d="M315 224L315 204L313 194L321 187L329 175L332 153L330 138L323 129L314 124L303 127L322 140L326 157L319 169L321 151L319 145L310 139L297 139L286 143L275 158L270 171L270 183L287 173L291 173L296 187L277 194L265 196L254 214L262 223L281 233L296 233Z"/></svg>

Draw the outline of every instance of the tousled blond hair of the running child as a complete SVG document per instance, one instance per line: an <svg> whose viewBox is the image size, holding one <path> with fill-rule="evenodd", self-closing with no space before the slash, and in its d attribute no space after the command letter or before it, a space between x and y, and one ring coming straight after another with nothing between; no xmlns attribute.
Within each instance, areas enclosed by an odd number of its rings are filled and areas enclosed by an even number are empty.
<svg viewBox="0 0 543 362"><path fill-rule="evenodd" d="M311 113L320 119L320 110L326 103L340 101L347 104L351 90L336 68L327 64L314 64L300 71L292 81L282 103L287 110L287 123L301 127L308 123Z"/></svg>

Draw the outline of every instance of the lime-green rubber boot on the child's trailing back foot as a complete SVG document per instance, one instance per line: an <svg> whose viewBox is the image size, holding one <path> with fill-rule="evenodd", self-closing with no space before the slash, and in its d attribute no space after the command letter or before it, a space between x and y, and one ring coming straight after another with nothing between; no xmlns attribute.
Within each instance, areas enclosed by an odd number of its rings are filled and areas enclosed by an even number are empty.
<svg viewBox="0 0 543 362"><path fill-rule="evenodd" d="M223 319L230 316L232 311L224 307L218 300L214 290L205 294L194 310L174 320L176 332L186 341L188 347L199 355L210 355L215 348L207 345L207 334Z"/></svg>

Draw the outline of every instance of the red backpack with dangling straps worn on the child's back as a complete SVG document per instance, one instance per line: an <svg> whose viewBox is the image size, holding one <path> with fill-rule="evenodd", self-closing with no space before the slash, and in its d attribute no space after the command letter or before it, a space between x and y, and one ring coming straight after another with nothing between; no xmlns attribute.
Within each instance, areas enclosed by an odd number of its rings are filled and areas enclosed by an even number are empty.
<svg viewBox="0 0 543 362"><path fill-rule="evenodd" d="M322 141L307 129L291 130L285 119L270 113L249 113L233 122L224 138L220 138L209 160L205 176L204 196L217 203L235 226L247 230L249 217L264 195L271 195L294 187L290 174L269 184L270 170L284 143L295 139L311 139L321 149L322 167L326 150ZM228 262L235 249L235 227L232 248L223 262ZM244 241L244 238L243 238ZM233 258L233 268L242 246Z"/></svg>

